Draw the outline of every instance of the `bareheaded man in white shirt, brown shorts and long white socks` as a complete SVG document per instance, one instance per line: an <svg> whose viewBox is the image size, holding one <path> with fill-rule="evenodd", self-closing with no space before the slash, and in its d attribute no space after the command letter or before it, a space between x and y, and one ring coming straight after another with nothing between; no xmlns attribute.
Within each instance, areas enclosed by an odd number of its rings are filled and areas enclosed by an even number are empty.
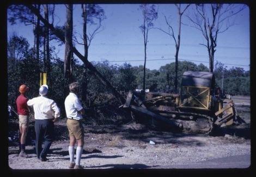
<svg viewBox="0 0 256 177"><path fill-rule="evenodd" d="M74 169L83 169L80 165L80 160L83 152L84 145L84 130L82 125L82 115L84 115L84 108L81 105L80 100L77 95L79 93L79 84L77 82L69 84L70 94L65 99L65 111L66 117L66 126L69 130L69 157L70 165L69 168ZM78 142L76 148L76 163L74 160L75 156L75 143Z"/></svg>

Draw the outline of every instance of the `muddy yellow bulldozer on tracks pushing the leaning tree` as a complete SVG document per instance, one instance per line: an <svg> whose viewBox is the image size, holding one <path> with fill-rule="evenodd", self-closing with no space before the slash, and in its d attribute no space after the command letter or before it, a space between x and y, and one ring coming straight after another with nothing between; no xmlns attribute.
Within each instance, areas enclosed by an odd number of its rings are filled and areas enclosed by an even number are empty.
<svg viewBox="0 0 256 177"><path fill-rule="evenodd" d="M243 121L235 112L234 102L223 100L216 92L212 72L186 71L179 94L130 91L123 107L130 108L139 122L151 120L152 124L164 123L183 132L210 134L215 127Z"/></svg>

